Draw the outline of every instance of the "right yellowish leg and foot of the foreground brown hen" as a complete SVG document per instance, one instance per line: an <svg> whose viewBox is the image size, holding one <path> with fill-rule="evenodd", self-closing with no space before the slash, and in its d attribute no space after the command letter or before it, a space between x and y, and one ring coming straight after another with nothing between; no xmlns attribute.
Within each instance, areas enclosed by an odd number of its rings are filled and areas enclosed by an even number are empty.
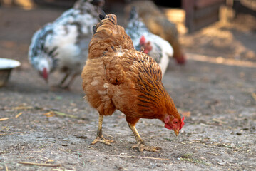
<svg viewBox="0 0 256 171"><path fill-rule="evenodd" d="M158 150L160 150L160 147L150 147L150 146L145 145L143 140L140 138L138 130L135 128L135 125L131 125L130 123L128 123L128 125L129 125L130 129L133 131L133 135L135 136L135 139L137 141L137 144L133 145L132 148L138 148L138 150L140 152L142 152L143 150L158 152Z"/></svg>

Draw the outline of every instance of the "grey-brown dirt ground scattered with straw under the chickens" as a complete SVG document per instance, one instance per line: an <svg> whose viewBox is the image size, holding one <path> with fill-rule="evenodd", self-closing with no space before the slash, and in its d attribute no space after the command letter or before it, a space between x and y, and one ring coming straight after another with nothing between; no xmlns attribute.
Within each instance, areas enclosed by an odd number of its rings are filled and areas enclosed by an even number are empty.
<svg viewBox="0 0 256 171"><path fill-rule="evenodd" d="M116 143L90 145L98 113L83 100L81 78L70 91L53 90L60 75L47 85L29 65L34 31L62 12L0 8L1 58L22 63L0 88L0 170L256 170L256 25L247 17L180 36L188 63L171 61L163 84L185 125L176 137L160 120L141 119L143 140L162 150L138 152L118 111L103 119Z"/></svg>

